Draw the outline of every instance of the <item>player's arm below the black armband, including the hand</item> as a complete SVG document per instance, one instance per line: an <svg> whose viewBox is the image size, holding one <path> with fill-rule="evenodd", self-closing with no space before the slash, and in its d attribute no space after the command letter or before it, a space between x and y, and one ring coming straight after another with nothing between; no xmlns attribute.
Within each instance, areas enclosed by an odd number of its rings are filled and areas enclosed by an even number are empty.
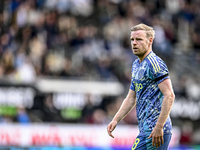
<svg viewBox="0 0 200 150"><path fill-rule="evenodd" d="M156 144L156 147L160 146L161 142L164 143L163 127L169 116L169 113L171 111L171 108L172 108L172 105L174 102L174 98L175 98L175 95L174 95L174 92L172 89L171 80L169 78L165 79L164 81L159 83L158 87L159 87L160 91L163 93L164 98L163 98L163 102L162 102L161 112L158 117L158 121L156 123L154 130L152 131L151 135L149 136L149 138L152 137L152 144L153 144L153 146L154 146L154 144Z"/></svg>

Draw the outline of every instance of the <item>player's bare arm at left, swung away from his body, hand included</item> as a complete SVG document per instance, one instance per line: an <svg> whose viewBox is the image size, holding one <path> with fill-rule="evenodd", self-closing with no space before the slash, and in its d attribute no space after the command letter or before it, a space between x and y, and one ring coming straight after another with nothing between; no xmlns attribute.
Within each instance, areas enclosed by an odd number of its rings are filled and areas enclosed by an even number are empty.
<svg viewBox="0 0 200 150"><path fill-rule="evenodd" d="M135 91L129 89L128 95L124 99L118 112L115 114L114 118L107 126L107 132L112 138L114 138L114 136L112 135L112 131L115 129L118 122L120 122L133 109L135 103L136 103L136 93Z"/></svg>

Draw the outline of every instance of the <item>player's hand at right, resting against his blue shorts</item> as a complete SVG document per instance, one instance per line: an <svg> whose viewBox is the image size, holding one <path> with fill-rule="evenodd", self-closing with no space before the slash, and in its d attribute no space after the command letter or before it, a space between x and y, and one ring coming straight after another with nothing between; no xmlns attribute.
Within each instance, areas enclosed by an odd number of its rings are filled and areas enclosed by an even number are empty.
<svg viewBox="0 0 200 150"><path fill-rule="evenodd" d="M161 142L162 144L164 144L163 128L155 126L148 139L150 139L151 137L153 147L156 146L156 148L158 148L159 146L161 146Z"/></svg>

